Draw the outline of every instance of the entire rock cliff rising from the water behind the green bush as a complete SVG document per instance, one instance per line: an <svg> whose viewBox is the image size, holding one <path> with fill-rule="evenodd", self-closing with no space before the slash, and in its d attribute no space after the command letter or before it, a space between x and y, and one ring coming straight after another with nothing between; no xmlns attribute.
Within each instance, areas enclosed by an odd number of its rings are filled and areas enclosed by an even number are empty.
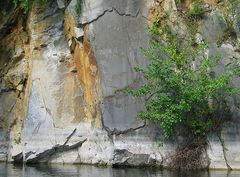
<svg viewBox="0 0 240 177"><path fill-rule="evenodd" d="M196 37L209 54L240 59L240 8L205 3ZM146 66L153 15L168 12L188 32L178 8L173 0L53 0L24 14L0 2L0 160L167 166L181 137L159 146L159 127L137 118L144 101L123 90L143 82L133 67ZM240 169L238 100L233 121L208 136L209 168Z"/></svg>

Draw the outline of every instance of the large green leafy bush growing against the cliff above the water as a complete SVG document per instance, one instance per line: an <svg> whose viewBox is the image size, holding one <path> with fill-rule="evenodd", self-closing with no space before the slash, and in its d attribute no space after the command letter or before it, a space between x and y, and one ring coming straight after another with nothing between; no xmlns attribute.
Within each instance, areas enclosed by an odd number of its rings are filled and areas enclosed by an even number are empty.
<svg viewBox="0 0 240 177"><path fill-rule="evenodd" d="M182 130L203 137L229 118L227 97L237 93L231 81L239 67L229 63L216 74L221 58L206 56L206 44L180 41L167 28L158 29L156 19L150 27L150 47L143 50L150 64L134 68L146 83L127 92L145 97L145 111L139 117L158 123L166 138Z"/></svg>

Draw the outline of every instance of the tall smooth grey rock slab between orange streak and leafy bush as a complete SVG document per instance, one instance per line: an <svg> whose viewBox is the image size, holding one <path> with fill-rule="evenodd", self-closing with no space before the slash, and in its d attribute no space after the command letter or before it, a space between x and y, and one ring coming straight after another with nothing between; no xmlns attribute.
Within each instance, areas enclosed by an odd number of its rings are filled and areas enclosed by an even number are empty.
<svg viewBox="0 0 240 177"><path fill-rule="evenodd" d="M140 48L147 43L147 20L139 13L144 1L103 1L100 7L106 8L108 4L113 10L90 24L89 35L100 69L103 124L112 131L122 131L143 124L137 120L137 112L143 108L142 101L126 96L121 90L141 81L133 67L146 63ZM95 6L96 3L89 3L86 12L91 12L90 7L94 12ZM95 15L92 14L93 18ZM91 21L87 17L83 12L82 20Z"/></svg>

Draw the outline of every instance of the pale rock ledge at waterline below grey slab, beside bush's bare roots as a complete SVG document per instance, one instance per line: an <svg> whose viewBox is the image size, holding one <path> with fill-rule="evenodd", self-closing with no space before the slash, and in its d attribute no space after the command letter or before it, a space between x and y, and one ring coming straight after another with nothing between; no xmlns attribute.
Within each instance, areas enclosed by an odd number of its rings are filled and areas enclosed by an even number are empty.
<svg viewBox="0 0 240 177"><path fill-rule="evenodd" d="M149 124L136 130L114 135L113 165L124 166L129 163L130 166L135 166L137 163L146 163L146 166L168 166L169 156L174 153L177 143L165 142L161 144L164 138L159 132L157 126ZM138 160L139 156L144 157L144 159ZM130 159L129 162L128 159Z"/></svg>

